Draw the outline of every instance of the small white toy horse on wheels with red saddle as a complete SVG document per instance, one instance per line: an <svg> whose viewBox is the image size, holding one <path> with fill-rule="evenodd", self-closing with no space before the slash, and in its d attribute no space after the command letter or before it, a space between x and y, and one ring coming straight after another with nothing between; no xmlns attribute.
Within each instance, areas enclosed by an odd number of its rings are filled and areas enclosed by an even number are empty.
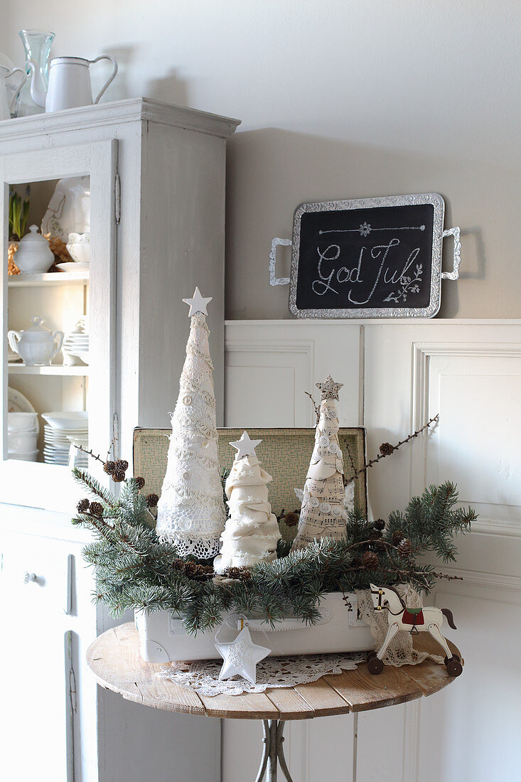
<svg viewBox="0 0 521 782"><path fill-rule="evenodd" d="M386 640L384 640L379 651L371 651L368 655L369 673L378 674L383 671L383 655L398 630L406 630L408 633L430 633L443 647L446 657L445 665L449 676L459 676L462 673L463 666L458 655L453 655L447 640L441 633L440 627L447 618L449 627L456 630L452 612L449 608L407 608L404 601L394 587L375 587L371 584L372 604L375 611L387 611L389 619L389 630L387 630Z"/></svg>

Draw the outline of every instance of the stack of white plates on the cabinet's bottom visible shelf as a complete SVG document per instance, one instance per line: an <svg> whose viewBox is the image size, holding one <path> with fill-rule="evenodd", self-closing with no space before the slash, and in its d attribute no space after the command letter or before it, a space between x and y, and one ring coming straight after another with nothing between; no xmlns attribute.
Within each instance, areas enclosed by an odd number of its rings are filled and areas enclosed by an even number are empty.
<svg viewBox="0 0 521 782"><path fill-rule="evenodd" d="M88 447L88 413L51 412L42 413L47 421L44 426L44 461L49 465L68 465L70 450L74 446ZM81 451L74 456L74 465L87 467L88 456Z"/></svg>

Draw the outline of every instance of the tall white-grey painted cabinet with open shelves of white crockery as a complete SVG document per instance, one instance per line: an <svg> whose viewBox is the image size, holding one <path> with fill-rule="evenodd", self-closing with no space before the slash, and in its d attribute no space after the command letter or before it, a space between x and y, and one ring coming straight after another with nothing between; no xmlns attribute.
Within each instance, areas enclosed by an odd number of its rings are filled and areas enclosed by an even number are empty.
<svg viewBox="0 0 521 782"><path fill-rule="evenodd" d="M210 350L222 423L225 140L237 124L148 99L0 122L0 551L13 636L2 650L2 670L13 670L2 698L13 719L2 744L9 779L219 778L217 721L96 690L84 652L110 622L91 603L84 532L68 522L78 489L68 466L43 463L42 436L39 461L9 458L6 414L20 393L38 414L88 411L89 447L104 454L116 436L117 455L131 462L135 426L168 425L189 329L181 299L199 285L213 296ZM56 181L80 176L90 188L88 271L8 276L9 188L31 185L30 223L39 224ZM87 315L88 366L64 366L61 355L49 367L8 361L8 328L27 328L34 315L60 330ZM98 465L89 466L96 472Z"/></svg>

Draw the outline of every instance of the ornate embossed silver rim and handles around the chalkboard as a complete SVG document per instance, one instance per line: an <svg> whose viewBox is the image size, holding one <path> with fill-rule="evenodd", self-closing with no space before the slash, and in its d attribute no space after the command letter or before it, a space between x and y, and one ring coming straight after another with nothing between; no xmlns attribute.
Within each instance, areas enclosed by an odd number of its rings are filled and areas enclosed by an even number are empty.
<svg viewBox="0 0 521 782"><path fill-rule="evenodd" d="M332 212L336 210L373 209L382 206L415 206L432 204L433 254L431 263L430 299L427 307L367 307L358 309L300 310L296 306L296 282L299 271L300 218L306 212ZM444 199L438 193L420 193L417 195L386 195L379 198L352 199L349 201L325 201L323 203L301 203L296 207L293 217L293 241L291 239L271 240L270 285L290 285L289 310L296 317L434 317L440 310L441 280L457 280L461 261L460 229L444 230ZM444 237L454 236L454 267L452 271L441 271L441 248ZM291 278L277 278L275 272L277 247L292 246Z"/></svg>

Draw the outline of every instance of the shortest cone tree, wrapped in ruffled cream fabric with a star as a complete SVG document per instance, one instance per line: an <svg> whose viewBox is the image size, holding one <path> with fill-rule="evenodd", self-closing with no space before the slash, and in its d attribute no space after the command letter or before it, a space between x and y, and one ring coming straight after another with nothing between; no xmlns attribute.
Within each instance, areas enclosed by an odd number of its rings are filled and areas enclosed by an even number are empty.
<svg viewBox="0 0 521 782"><path fill-rule="evenodd" d="M230 443L237 454L225 486L230 516L221 535L221 554L214 559L216 573L277 558L280 532L268 502L268 483L273 479L255 454L260 442L244 432L241 439Z"/></svg>

